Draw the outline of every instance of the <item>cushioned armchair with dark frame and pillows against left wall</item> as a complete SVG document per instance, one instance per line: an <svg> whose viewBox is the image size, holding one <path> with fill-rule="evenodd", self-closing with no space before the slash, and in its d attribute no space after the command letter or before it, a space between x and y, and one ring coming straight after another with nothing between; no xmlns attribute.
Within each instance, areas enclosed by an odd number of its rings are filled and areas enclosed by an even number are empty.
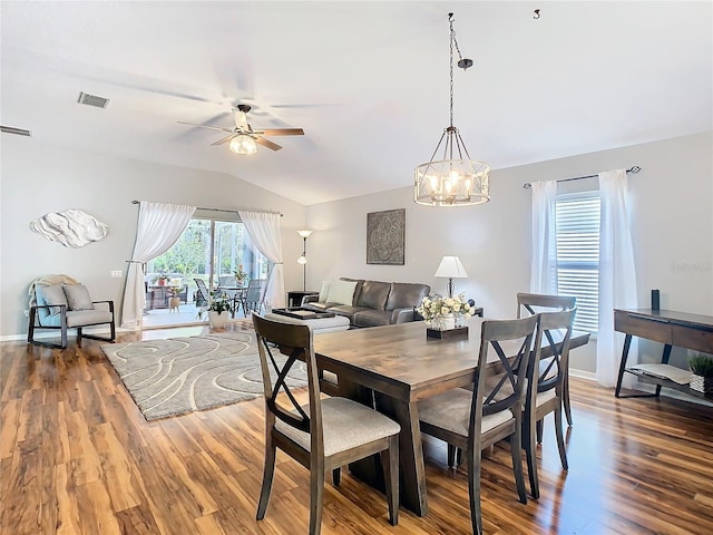
<svg viewBox="0 0 713 535"><path fill-rule="evenodd" d="M30 285L29 293L28 343L66 349L69 329L77 329L79 344L81 344L82 338L106 342L116 340L114 301L92 301L87 288L70 276L45 275L36 279ZM84 328L96 325L108 325L109 337L84 332ZM60 343L36 340L35 333L38 329L59 330Z"/></svg>

